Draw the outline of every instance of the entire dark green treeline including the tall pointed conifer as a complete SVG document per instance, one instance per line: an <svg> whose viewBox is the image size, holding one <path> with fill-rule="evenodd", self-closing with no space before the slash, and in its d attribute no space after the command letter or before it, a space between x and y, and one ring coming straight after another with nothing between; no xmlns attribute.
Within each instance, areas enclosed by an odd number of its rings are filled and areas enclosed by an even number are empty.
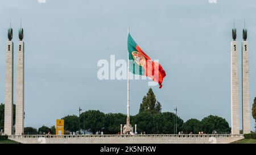
<svg viewBox="0 0 256 155"><path fill-rule="evenodd" d="M1 108L2 107L2 108ZM3 111L3 104L0 106L0 111ZM3 114L0 112L0 114ZM117 134L120 132L120 124L126 124L125 114L104 114L98 110L88 110L82 112L80 117L77 115L68 115L64 118L64 133L87 131L96 133L103 131L104 134ZM175 123L176 122L176 123ZM184 122L179 116L172 112L162 112L162 106L156 100L152 89L148 90L146 96L143 97L139 107L139 113L130 116L130 123L137 124L137 132L145 132L146 134L174 134L175 125L177 132L197 134L201 131L204 133L213 133L213 131L228 133L231 131L228 122L224 118L209 115L202 120L189 119ZM0 129L3 128L3 116L0 115ZM46 127L43 125L38 130L32 127L24 128L24 133L39 133L47 134L48 132L55 134L55 126ZM177 133L176 132L176 133Z"/></svg>

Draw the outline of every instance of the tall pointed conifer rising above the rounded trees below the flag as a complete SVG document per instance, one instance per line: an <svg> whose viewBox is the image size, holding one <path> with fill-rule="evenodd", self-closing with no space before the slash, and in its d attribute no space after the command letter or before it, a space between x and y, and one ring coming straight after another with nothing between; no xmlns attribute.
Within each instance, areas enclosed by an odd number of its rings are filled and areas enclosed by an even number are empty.
<svg viewBox="0 0 256 155"><path fill-rule="evenodd" d="M143 97L139 112L150 112L151 114L161 113L162 106L155 98L153 90L150 88L147 95Z"/></svg>

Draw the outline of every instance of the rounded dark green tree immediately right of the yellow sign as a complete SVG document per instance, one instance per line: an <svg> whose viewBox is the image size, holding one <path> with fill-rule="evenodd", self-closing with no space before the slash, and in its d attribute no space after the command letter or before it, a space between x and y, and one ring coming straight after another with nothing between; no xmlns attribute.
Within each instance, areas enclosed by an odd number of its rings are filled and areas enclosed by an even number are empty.
<svg viewBox="0 0 256 155"><path fill-rule="evenodd" d="M64 118L64 129L71 132L79 130L79 117L76 115L68 115Z"/></svg>

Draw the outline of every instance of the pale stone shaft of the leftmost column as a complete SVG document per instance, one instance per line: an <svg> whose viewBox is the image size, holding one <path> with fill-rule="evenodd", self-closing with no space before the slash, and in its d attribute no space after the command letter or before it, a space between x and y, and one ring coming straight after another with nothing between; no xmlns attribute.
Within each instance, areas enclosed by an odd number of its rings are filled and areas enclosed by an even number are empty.
<svg viewBox="0 0 256 155"><path fill-rule="evenodd" d="M5 134L13 134L13 41L11 39L6 43Z"/></svg>

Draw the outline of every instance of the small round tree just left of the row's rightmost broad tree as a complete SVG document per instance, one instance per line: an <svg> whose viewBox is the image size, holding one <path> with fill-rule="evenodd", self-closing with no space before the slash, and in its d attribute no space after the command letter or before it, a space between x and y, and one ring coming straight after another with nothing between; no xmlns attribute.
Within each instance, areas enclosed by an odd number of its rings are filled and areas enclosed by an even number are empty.
<svg viewBox="0 0 256 155"><path fill-rule="evenodd" d="M197 119L189 119L182 125L184 133L189 134L190 132L197 134L201 131L201 122Z"/></svg>

